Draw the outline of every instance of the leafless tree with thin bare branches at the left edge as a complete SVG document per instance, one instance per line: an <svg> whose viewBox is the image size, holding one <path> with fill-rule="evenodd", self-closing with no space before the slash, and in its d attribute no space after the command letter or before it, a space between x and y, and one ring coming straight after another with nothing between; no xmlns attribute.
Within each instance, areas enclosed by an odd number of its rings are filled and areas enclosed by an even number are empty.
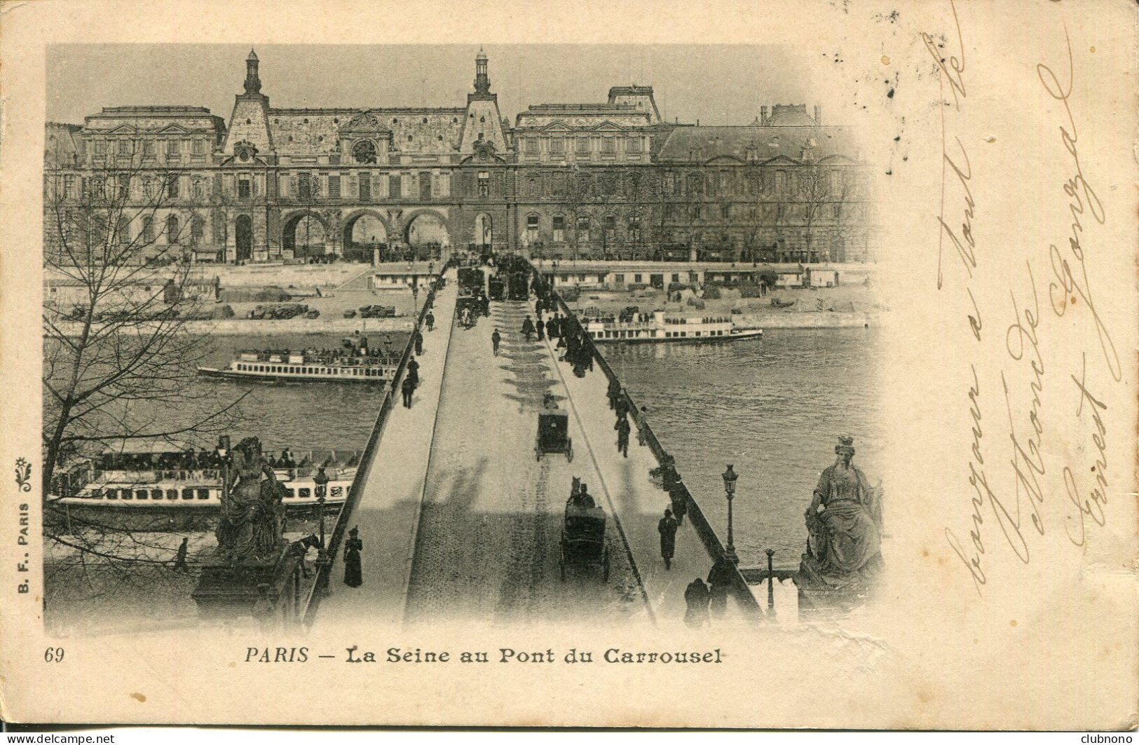
<svg viewBox="0 0 1139 745"><path fill-rule="evenodd" d="M178 211L180 173L141 157L46 178L43 484L66 459L110 440L210 436L236 401L191 385L210 337ZM56 300L51 298L55 295Z"/></svg>

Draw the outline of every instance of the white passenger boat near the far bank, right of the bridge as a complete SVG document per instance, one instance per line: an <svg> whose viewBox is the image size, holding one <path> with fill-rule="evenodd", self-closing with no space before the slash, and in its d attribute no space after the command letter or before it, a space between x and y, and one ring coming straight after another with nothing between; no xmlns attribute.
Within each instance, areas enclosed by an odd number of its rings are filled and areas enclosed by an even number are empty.
<svg viewBox="0 0 1139 745"><path fill-rule="evenodd" d="M599 344L743 342L763 337L763 329L738 327L730 317L670 317L664 311L584 318L582 324Z"/></svg>

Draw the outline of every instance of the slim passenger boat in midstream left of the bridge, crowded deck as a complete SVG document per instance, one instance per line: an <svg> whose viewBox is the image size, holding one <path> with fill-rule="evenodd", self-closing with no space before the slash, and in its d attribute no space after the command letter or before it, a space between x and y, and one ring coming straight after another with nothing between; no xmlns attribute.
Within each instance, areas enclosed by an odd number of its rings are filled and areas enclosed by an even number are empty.
<svg viewBox="0 0 1139 745"><path fill-rule="evenodd" d="M361 350L241 350L228 368L199 367L198 375L272 383L388 384L400 360Z"/></svg>

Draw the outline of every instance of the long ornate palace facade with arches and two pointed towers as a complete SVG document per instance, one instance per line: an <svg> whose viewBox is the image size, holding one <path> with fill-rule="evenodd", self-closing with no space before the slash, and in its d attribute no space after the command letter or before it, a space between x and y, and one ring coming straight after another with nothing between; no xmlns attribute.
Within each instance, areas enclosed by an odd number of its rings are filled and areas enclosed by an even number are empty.
<svg viewBox="0 0 1139 745"><path fill-rule="evenodd" d="M245 64L228 122L128 106L48 123L48 248L76 213L103 211L114 216L100 229L144 259L171 246L218 262L446 246L563 260L872 256L871 171L818 106L699 126L663 121L650 87L626 85L605 103L532 105L511 123L480 51L464 106L276 108L256 54Z"/></svg>

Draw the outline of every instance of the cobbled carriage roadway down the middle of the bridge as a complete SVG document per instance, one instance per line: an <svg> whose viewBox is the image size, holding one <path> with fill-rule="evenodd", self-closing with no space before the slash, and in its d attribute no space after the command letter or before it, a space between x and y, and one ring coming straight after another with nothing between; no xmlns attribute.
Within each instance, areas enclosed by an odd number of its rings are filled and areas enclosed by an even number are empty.
<svg viewBox="0 0 1139 745"><path fill-rule="evenodd" d="M441 392L434 452L408 588L408 621L466 616L494 622L645 619L628 550L607 523L611 575L571 567L560 581L559 540L573 476L599 483L574 417L571 462L535 457L538 414L566 392L544 343L526 342L522 302L492 304L472 329L456 327ZM500 354L491 333L502 334Z"/></svg>

